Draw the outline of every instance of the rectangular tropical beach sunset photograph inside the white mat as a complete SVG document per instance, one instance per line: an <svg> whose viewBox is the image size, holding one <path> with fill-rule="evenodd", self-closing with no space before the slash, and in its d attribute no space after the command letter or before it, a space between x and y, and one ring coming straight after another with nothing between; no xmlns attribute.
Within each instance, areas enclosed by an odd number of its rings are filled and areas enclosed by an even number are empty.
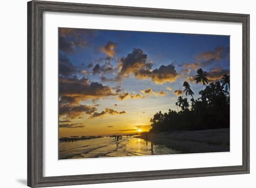
<svg viewBox="0 0 256 188"><path fill-rule="evenodd" d="M58 34L60 160L229 151L229 35Z"/></svg>

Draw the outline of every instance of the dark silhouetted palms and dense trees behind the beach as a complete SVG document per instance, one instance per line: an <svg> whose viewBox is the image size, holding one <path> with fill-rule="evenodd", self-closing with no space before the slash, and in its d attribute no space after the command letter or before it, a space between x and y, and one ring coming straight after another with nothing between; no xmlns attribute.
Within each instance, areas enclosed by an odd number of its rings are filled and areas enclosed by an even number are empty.
<svg viewBox="0 0 256 188"><path fill-rule="evenodd" d="M229 127L229 75L224 74L221 81L209 83L208 73L202 69L197 70L195 83L202 83L205 88L199 92L201 95L194 99L194 92L187 81L183 88L186 96L179 96L175 105L177 111L168 113L161 111L155 113L150 119L152 129L150 132L171 132L183 130L204 130ZM209 83L209 84L208 84Z"/></svg>

